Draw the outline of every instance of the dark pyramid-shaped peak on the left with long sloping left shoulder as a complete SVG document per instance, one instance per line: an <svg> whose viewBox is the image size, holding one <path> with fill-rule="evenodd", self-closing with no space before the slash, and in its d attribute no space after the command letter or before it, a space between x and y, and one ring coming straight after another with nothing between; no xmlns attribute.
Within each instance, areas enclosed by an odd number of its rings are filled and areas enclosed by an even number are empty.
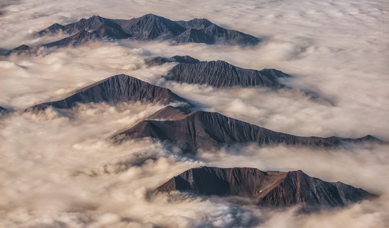
<svg viewBox="0 0 389 228"><path fill-rule="evenodd" d="M187 102L171 90L156 85L151 85L137 78L120 74L102 80L86 88L76 91L74 95L64 100L37 104L30 109L45 109L55 107L58 109L69 109L78 103L119 103L119 102Z"/></svg>

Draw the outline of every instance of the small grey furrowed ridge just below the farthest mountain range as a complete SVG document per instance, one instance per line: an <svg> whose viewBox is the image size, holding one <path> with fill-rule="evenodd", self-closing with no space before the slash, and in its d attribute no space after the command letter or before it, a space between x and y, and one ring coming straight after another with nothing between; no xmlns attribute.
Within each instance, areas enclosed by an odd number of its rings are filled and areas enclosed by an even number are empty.
<svg viewBox="0 0 389 228"><path fill-rule="evenodd" d="M178 83L205 84L213 87L252 87L284 88L279 78L291 77L275 69L256 71L228 64L226 61L202 61L198 64L178 64L165 76Z"/></svg>

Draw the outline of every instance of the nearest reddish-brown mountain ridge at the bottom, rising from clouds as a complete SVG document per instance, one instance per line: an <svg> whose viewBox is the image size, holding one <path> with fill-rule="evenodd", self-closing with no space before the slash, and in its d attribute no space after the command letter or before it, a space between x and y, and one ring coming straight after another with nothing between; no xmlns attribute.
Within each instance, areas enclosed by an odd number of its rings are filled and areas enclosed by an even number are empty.
<svg viewBox="0 0 389 228"><path fill-rule="evenodd" d="M262 172L254 168L198 167L174 176L156 191L243 196L262 206L303 205L304 209L342 207L374 195L341 182L326 182L302 171Z"/></svg>

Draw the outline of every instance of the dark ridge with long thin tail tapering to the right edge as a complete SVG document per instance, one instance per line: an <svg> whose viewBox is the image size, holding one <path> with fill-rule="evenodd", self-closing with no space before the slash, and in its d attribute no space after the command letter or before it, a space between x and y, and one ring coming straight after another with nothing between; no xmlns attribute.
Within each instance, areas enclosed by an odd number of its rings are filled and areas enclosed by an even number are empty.
<svg viewBox="0 0 389 228"><path fill-rule="evenodd" d="M157 114L153 114L151 118L173 120L144 120L119 135L124 135L124 138L151 137L166 140L180 148L182 152L190 153L195 153L200 148L209 150L236 143L331 148L344 142L381 142L373 136L356 139L335 136L329 138L293 136L232 119L217 112L187 113L179 109L177 112L173 112L172 109L175 108L166 107L158 111ZM168 114L172 114L173 117L169 118Z"/></svg>

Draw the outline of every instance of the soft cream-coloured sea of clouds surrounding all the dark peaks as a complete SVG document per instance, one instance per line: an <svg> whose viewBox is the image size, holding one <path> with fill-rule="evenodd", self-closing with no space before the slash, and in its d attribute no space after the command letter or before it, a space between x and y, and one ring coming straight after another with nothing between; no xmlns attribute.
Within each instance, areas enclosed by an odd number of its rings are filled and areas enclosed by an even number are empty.
<svg viewBox="0 0 389 228"><path fill-rule="evenodd" d="M197 109L221 112L299 136L371 134L389 140L389 4L387 1L1 1L0 48L37 45L52 23L99 15L155 13L172 20L207 18L263 41L257 47L168 42L93 42L0 57L0 226L5 227L386 227L388 146L339 150L258 148L202 151L187 158L149 140L122 145L108 138L162 108L152 104L87 104L61 113L23 109L59 100L118 73L170 88ZM149 56L222 59L244 68L277 68L286 83L308 90L215 89L161 79L173 64L148 67ZM150 196L172 176L200 165L302 169L381 197L310 215L267 210L223 198Z"/></svg>

